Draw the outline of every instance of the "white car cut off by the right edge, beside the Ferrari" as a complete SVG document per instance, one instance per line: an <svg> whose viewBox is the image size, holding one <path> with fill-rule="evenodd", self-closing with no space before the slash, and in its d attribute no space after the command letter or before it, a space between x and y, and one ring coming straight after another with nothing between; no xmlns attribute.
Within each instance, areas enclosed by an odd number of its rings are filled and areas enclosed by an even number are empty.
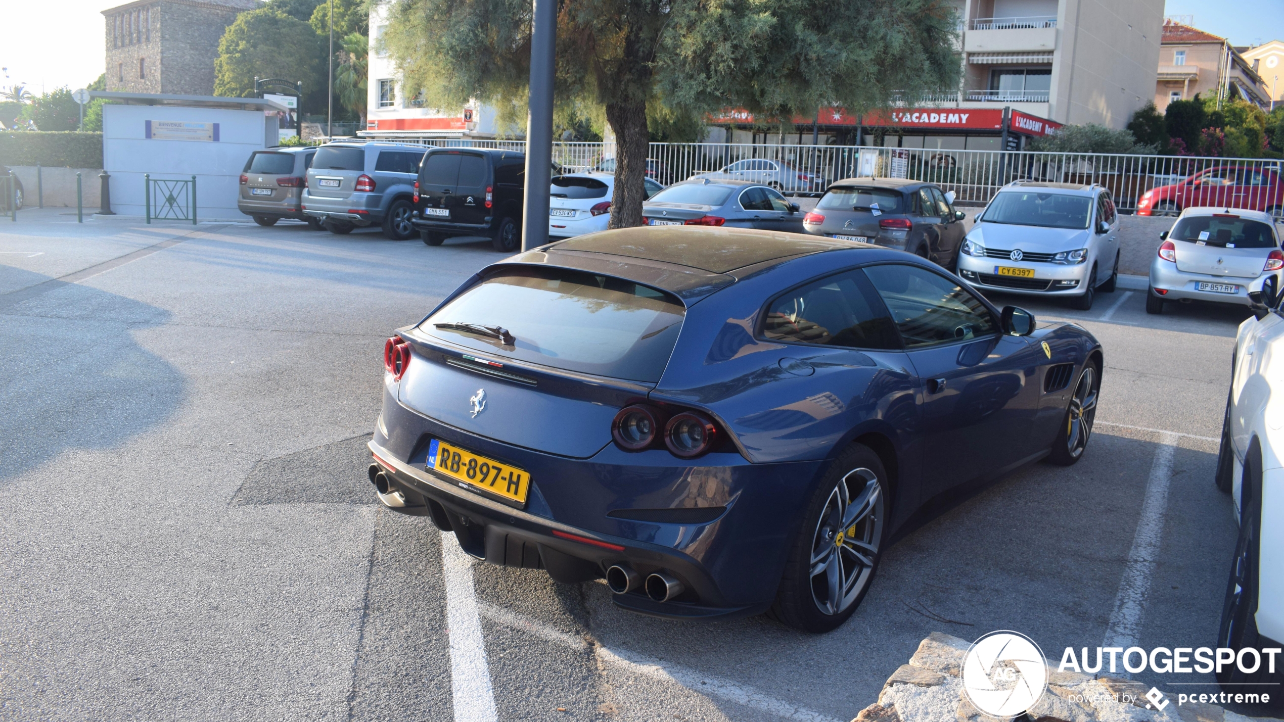
<svg viewBox="0 0 1284 722"><path fill-rule="evenodd" d="M1263 286L1253 291L1254 315L1239 324L1235 339L1216 477L1217 487L1234 496L1239 521L1217 646L1258 654L1284 646L1284 314L1276 278ZM1284 654L1275 654L1274 673L1267 657L1261 659L1247 675L1228 664L1217 681L1226 691L1284 682Z"/></svg>

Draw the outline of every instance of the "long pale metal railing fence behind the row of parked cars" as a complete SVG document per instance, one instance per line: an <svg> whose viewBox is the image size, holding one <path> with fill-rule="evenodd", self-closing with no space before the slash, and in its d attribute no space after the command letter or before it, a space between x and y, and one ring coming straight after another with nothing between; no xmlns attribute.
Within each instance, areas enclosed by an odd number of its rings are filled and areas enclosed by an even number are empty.
<svg viewBox="0 0 1284 722"><path fill-rule="evenodd" d="M392 140L392 139L380 139ZM398 139L438 147L503 147L524 141ZM614 144L556 142L564 172L615 169ZM1102 153L1035 153L790 144L652 142L647 174L661 183L693 176L772 185L786 195L819 195L828 183L858 176L930 181L954 191L957 203L985 205L1000 187L1032 180L1098 183L1125 213L1139 209L1175 215L1189 205L1226 205L1274 212L1284 218L1284 168L1261 158L1195 158ZM1176 186L1152 194L1162 186Z"/></svg>

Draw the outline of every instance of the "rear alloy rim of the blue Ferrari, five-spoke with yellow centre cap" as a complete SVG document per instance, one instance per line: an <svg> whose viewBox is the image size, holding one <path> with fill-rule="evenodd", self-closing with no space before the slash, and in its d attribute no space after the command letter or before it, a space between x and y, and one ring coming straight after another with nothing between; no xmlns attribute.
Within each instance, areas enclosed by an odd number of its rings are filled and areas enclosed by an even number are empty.
<svg viewBox="0 0 1284 722"><path fill-rule="evenodd" d="M864 467L847 472L829 492L811 539L811 600L822 613L844 612L869 583L883 508L878 477Z"/></svg>

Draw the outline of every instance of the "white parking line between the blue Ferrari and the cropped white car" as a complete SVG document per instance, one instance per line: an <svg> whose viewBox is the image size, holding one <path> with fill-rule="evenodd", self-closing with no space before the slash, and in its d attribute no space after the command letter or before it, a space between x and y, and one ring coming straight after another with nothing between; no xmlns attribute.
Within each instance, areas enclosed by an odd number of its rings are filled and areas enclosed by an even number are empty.
<svg viewBox="0 0 1284 722"><path fill-rule="evenodd" d="M1150 464L1150 478L1145 485L1145 499L1141 501L1141 518L1132 536L1132 549L1124 567L1124 580L1115 598L1115 612L1106 627L1104 648L1127 649L1136 646L1141 634L1141 614L1145 612L1145 598L1150 592L1150 576L1159 558L1159 542L1163 540L1163 517L1168 510L1168 482L1172 478L1172 451L1177 444L1176 433L1161 432L1159 448L1154 451Z"/></svg>

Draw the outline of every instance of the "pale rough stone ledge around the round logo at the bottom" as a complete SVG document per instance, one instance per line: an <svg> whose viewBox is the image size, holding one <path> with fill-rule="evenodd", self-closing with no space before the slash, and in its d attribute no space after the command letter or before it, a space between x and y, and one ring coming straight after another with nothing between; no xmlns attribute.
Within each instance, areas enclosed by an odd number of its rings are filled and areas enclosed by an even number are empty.
<svg viewBox="0 0 1284 722"><path fill-rule="evenodd" d="M1007 722L989 717L963 693L967 640L932 632L918 650L892 672L878 703L860 710L851 722ZM1215 704L1185 703L1167 696L1163 709L1145 698L1148 689L1131 680L1080 672L1058 672L1045 659L1048 690L1034 707L1012 722L1278 722L1244 717Z"/></svg>

